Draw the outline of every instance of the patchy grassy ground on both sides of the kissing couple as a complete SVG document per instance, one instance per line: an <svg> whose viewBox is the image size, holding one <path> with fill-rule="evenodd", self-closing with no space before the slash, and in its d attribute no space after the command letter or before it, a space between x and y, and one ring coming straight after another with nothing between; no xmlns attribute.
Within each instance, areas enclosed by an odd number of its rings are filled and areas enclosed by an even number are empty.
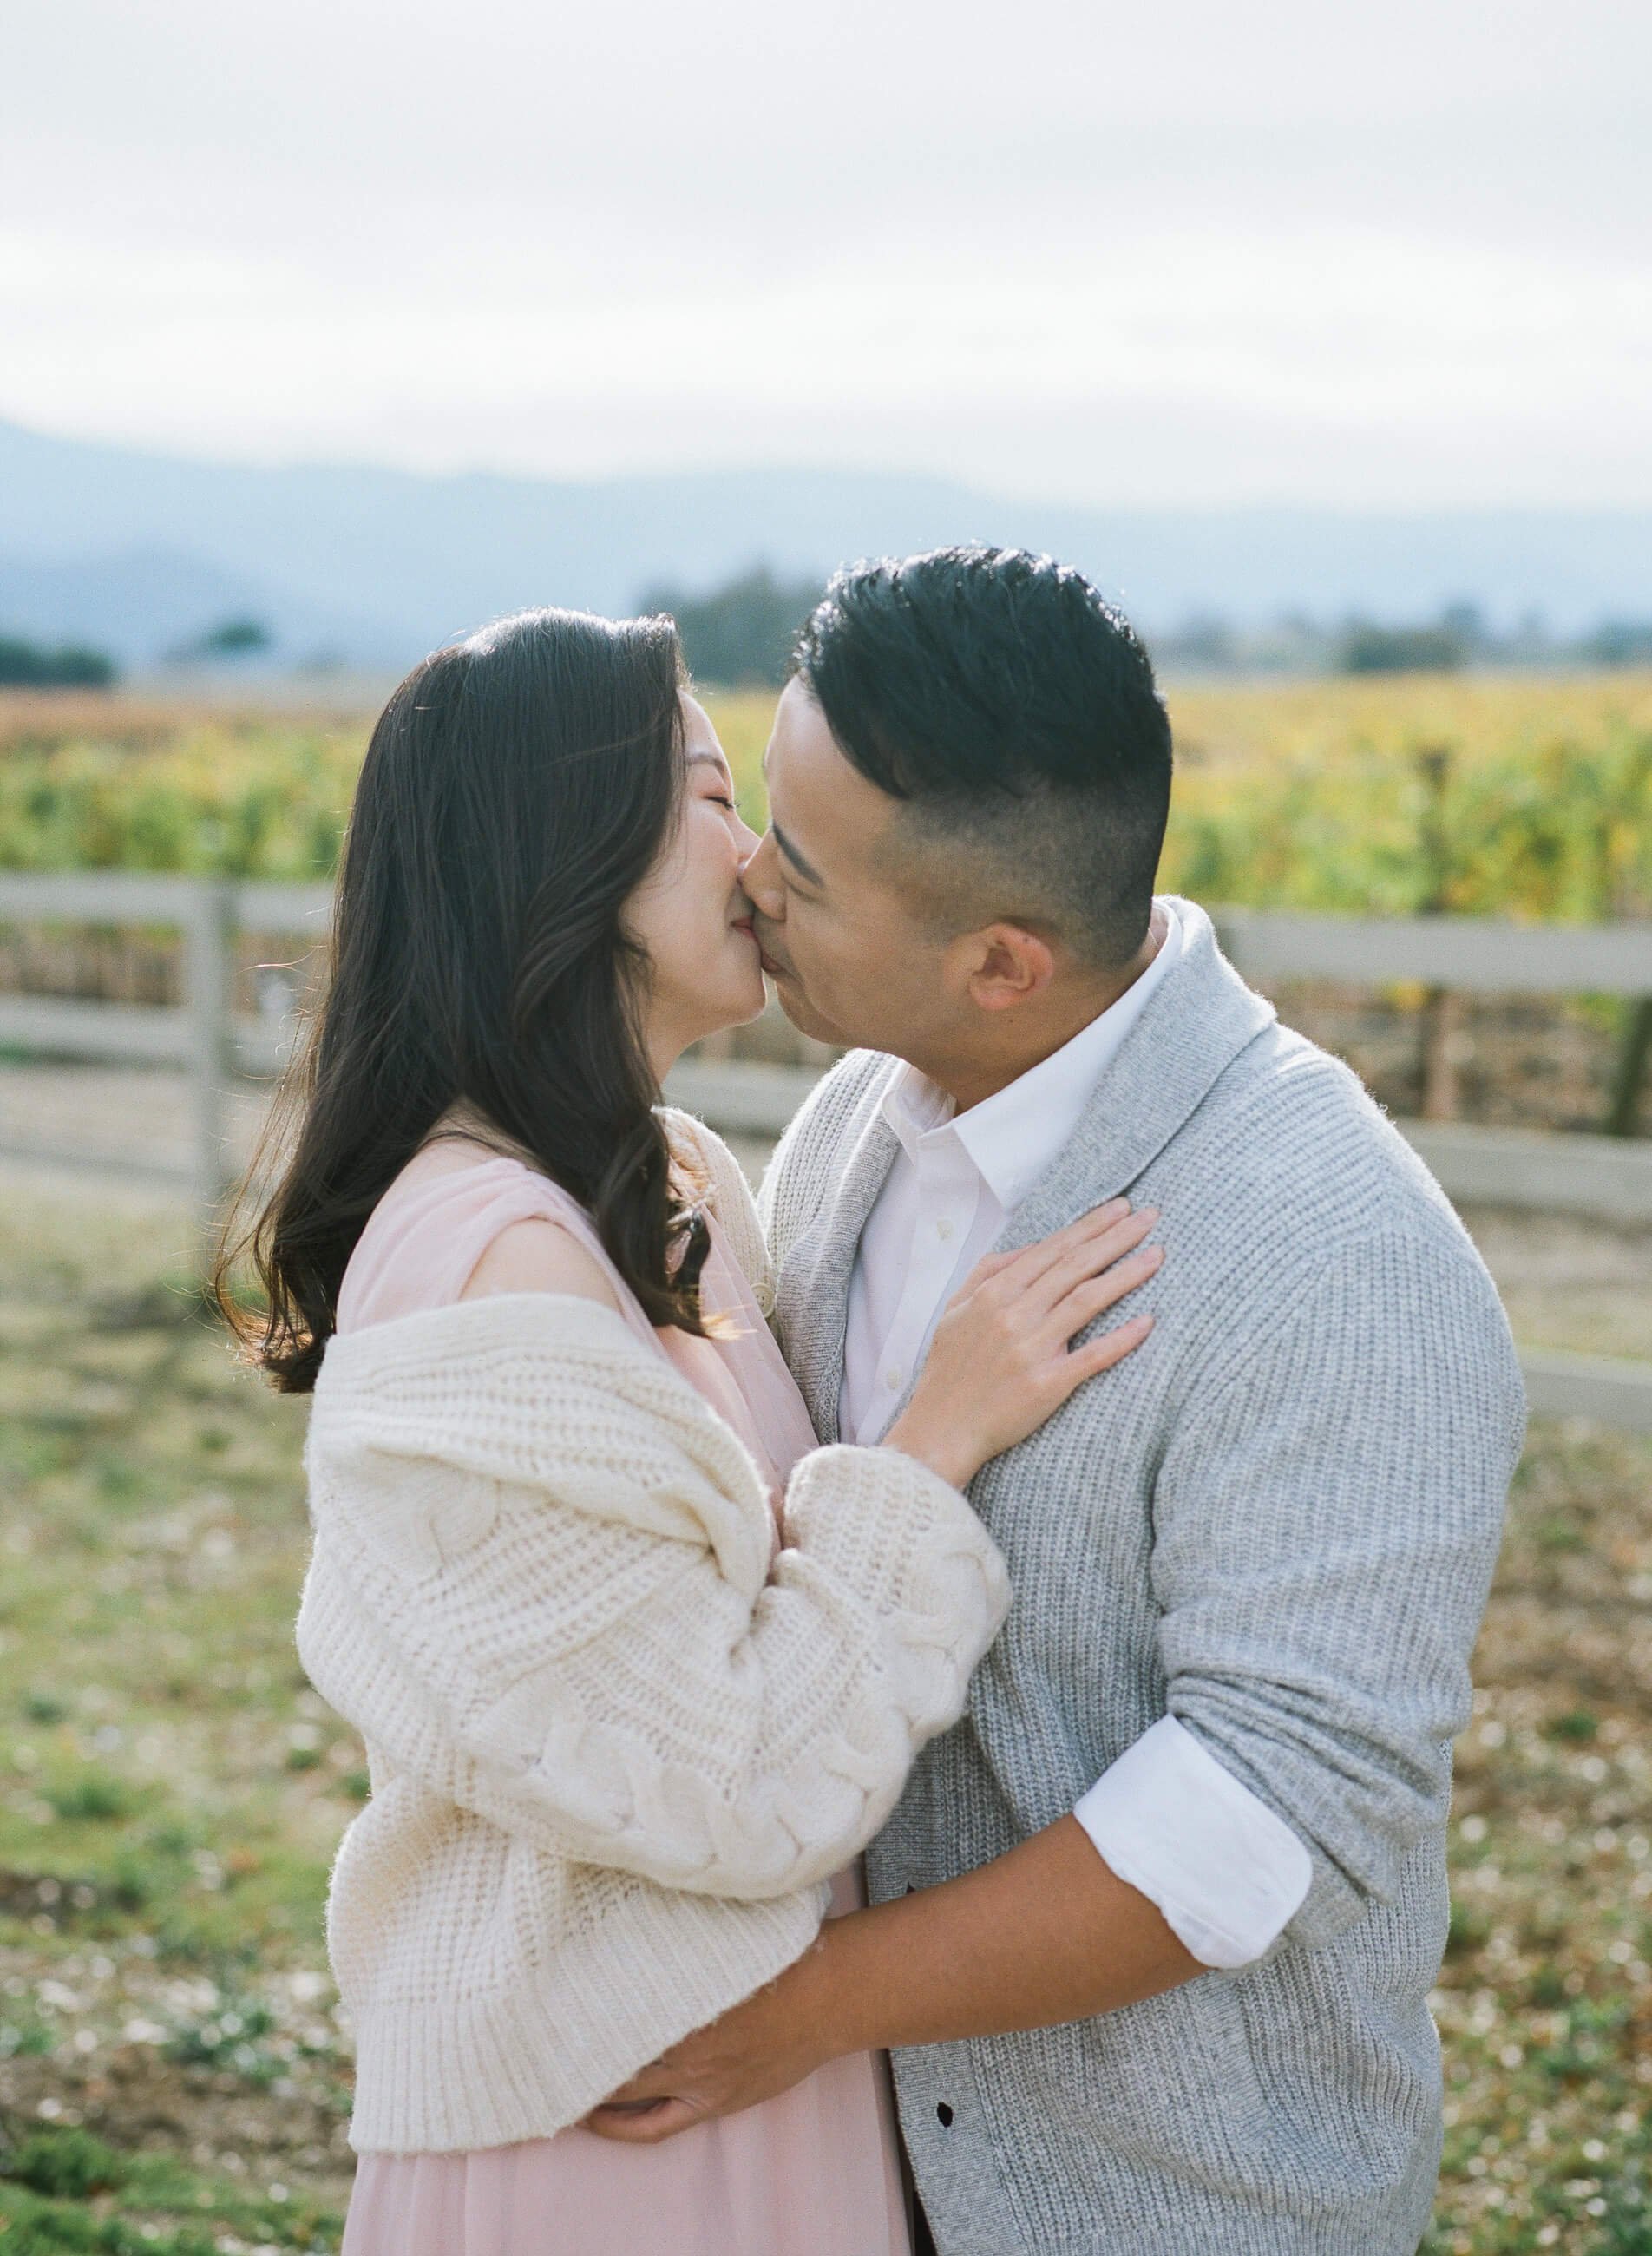
<svg viewBox="0 0 1652 2256"><path fill-rule="evenodd" d="M348 2200L323 1893L366 1780L291 1647L305 1412L196 1320L178 1239L138 1196L0 1198L0 2249L25 2256L336 2249ZM1535 1259L1532 1306L1564 1277L1602 1322L1557 1239ZM1650 1600L1652 1444L1539 1428L1460 1746L1431 2256L1652 2251Z"/></svg>

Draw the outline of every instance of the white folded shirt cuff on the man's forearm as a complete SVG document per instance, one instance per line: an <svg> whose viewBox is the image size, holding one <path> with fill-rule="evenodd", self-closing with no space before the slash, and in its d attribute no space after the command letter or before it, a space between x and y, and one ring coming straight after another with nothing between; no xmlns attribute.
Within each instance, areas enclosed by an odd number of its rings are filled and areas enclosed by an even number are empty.
<svg viewBox="0 0 1652 2256"><path fill-rule="evenodd" d="M1174 1715L1126 1746L1074 1816L1207 1967L1250 1965L1302 1906L1313 1861Z"/></svg>

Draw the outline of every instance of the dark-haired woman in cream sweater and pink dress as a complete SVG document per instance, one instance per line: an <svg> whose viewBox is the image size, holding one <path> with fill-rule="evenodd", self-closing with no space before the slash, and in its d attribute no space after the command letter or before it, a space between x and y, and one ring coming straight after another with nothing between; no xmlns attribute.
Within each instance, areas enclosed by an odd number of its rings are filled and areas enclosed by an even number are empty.
<svg viewBox="0 0 1652 2256"><path fill-rule="evenodd" d="M907 2256L880 2060L645 2150L580 2118L862 1902L1009 1604L959 1491L1155 1257L1101 1214L995 1263L887 1442L817 1446L740 1171L657 1103L763 1006L754 846L664 618L438 652L361 772L239 1318L314 1390L298 1649L372 1780L348 2256Z"/></svg>

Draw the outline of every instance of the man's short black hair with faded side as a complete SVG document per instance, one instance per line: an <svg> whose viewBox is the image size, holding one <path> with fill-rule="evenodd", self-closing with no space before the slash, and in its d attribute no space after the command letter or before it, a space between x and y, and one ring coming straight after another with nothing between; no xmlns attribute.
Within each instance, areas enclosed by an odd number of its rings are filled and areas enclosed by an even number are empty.
<svg viewBox="0 0 1652 2256"><path fill-rule="evenodd" d="M977 546L849 564L792 666L844 758L903 801L887 851L950 923L1135 957L1171 729L1135 629L1081 571Z"/></svg>

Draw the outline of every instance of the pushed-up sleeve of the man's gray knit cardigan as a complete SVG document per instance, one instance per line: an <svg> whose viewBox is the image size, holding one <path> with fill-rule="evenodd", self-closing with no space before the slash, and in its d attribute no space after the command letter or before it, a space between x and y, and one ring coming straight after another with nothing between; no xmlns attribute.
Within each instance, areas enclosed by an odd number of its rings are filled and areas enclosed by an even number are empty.
<svg viewBox="0 0 1652 2256"><path fill-rule="evenodd" d="M1526 1401L1490 1277L1323 1252L1185 1408L1153 1496L1167 1708L1307 1848L1320 1945L1444 1821Z"/></svg>

